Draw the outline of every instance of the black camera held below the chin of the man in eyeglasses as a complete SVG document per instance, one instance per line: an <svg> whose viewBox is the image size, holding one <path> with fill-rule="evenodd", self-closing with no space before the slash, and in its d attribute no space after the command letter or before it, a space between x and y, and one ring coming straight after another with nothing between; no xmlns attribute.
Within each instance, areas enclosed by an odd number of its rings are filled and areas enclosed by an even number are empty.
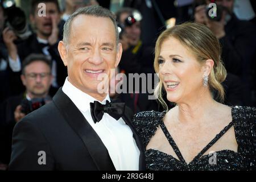
<svg viewBox="0 0 256 182"><path fill-rule="evenodd" d="M36 109L39 109L39 107L42 107L45 104L46 102L44 98L32 98L30 101L24 99L20 104L22 106L22 109L20 111L27 115L28 113L31 113Z"/></svg>

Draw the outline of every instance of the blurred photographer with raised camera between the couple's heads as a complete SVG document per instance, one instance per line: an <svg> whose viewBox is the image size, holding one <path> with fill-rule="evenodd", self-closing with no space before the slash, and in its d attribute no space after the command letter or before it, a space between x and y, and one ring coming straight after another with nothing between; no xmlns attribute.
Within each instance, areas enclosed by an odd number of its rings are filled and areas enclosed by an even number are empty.
<svg viewBox="0 0 256 182"><path fill-rule="evenodd" d="M122 30L119 33L123 47L120 71L127 76L129 73L154 73L154 47L144 45L141 40L142 16L139 11L125 7L117 11L116 19Z"/></svg>

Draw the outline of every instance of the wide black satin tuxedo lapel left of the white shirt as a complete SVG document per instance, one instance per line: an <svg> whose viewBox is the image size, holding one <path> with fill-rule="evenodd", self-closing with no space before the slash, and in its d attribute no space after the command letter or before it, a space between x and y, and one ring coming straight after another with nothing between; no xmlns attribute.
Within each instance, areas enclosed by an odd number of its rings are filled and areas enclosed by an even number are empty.
<svg viewBox="0 0 256 182"><path fill-rule="evenodd" d="M102 143L100 137L86 121L84 115L76 107L69 97L62 91L62 87L53 97L53 103L60 110L65 120L84 142L90 156L98 170L115 170L109 152ZM86 164L85 164L86 165Z"/></svg>

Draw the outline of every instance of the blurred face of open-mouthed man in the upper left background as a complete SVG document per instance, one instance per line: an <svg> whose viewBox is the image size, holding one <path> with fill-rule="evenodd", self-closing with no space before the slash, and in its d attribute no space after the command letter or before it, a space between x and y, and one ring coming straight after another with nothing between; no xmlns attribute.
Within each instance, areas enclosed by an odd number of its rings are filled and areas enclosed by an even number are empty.
<svg viewBox="0 0 256 182"><path fill-rule="evenodd" d="M36 9L34 15L31 15L31 22L35 24L37 31L44 35L49 36L52 33L52 22L59 23L60 14L55 3L47 2L46 4L46 16L39 16L39 8ZM41 10L40 10L41 12Z"/></svg>

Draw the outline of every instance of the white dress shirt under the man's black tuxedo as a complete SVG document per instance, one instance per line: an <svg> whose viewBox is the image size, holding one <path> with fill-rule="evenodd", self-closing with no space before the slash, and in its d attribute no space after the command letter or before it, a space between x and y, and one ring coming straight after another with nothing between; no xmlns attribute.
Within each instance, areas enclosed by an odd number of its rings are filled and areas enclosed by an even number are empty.
<svg viewBox="0 0 256 182"><path fill-rule="evenodd" d="M139 169L140 151L133 138L133 132L123 119L120 118L117 121L108 113L104 113L101 121L94 123L90 114L90 102L97 100L73 86L68 81L68 77L62 90L81 111L94 131L96 131L107 148L115 169L118 171L137 171ZM102 102L98 102L106 104L106 100L110 102L109 94Z"/></svg>

